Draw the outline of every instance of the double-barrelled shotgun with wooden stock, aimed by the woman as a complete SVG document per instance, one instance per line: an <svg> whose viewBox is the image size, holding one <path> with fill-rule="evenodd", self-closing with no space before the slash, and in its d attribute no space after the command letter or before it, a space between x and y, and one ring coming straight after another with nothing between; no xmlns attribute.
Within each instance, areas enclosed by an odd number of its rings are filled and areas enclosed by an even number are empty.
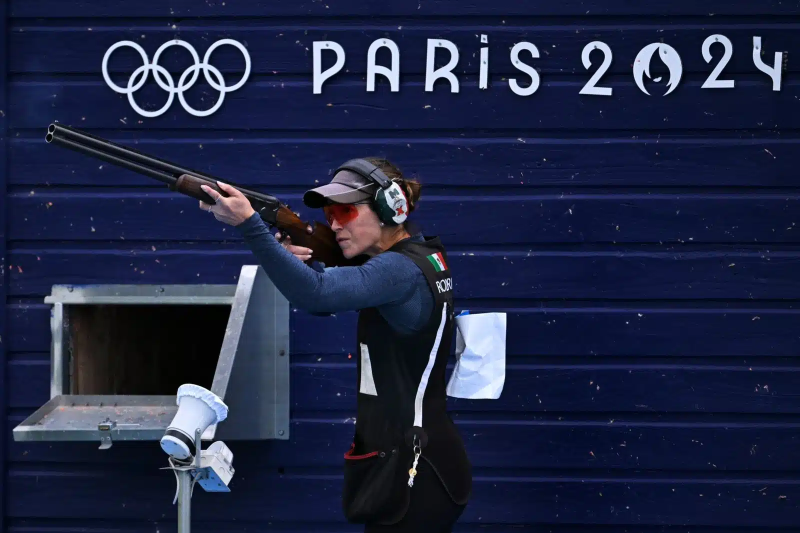
<svg viewBox="0 0 800 533"><path fill-rule="evenodd" d="M289 209L289 206L270 194L243 189L227 180L175 165L165 159L156 158L134 148L110 142L105 138L71 126L64 126L58 122L48 126L45 141L157 179L166 183L170 190L206 203L214 203L214 200L200 188L201 185L210 186L222 196L227 197L228 194L220 190L216 182L227 183L246 196L250 205L264 222L280 230L283 235L289 235L292 243L313 250L311 258L307 262L316 260L325 263L325 266L357 266L364 260L363 256L345 258L330 226L326 226L322 222L310 224L303 221L298 214ZM309 227L311 228L310 232Z"/></svg>

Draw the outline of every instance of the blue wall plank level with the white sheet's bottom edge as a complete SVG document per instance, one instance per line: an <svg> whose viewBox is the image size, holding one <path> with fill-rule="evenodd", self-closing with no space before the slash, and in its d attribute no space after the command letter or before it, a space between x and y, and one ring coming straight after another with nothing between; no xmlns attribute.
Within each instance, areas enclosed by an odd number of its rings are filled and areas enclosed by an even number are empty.
<svg viewBox="0 0 800 533"><path fill-rule="evenodd" d="M356 372L345 356L294 363L292 406L300 411L351 411ZM452 371L452 360L448 375ZM800 368L757 363L727 366L674 364L519 364L506 367L500 399L448 399L455 411L800 413L795 383ZM8 402L38 408L50 399L50 360L9 363Z"/></svg>

